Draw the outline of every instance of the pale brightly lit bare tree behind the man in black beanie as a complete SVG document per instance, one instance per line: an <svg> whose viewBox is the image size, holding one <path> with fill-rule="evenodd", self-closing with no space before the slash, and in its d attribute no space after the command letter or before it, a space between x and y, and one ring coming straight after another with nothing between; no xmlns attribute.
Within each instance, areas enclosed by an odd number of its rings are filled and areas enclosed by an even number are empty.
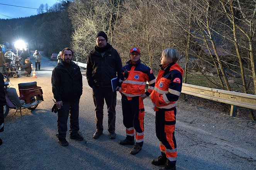
<svg viewBox="0 0 256 170"><path fill-rule="evenodd" d="M72 35L72 47L80 61L86 61L96 42L96 34L103 30L113 44L115 24L119 18L120 0L75 0L69 14L75 29Z"/></svg>

